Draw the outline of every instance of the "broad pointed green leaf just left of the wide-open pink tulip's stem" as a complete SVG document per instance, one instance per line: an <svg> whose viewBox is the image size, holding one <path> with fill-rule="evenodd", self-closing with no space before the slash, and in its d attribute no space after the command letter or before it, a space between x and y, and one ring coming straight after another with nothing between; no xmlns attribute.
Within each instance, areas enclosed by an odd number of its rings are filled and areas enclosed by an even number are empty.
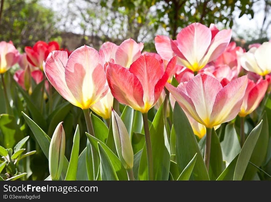
<svg viewBox="0 0 271 202"><path fill-rule="evenodd" d="M195 153L201 152L188 118L177 102L173 110L173 126L176 134L176 162L180 170L184 170ZM190 180L209 180L201 155L196 159Z"/></svg>

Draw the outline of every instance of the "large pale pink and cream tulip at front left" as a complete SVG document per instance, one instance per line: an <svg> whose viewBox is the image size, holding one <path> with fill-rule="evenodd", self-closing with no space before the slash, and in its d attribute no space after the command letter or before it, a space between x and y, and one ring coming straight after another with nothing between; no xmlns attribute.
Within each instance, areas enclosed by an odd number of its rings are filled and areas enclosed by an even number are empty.
<svg viewBox="0 0 271 202"><path fill-rule="evenodd" d="M108 91L102 56L103 51L99 53L89 46L81 46L69 58L66 51L56 50L43 63L44 73L62 97L88 109Z"/></svg>

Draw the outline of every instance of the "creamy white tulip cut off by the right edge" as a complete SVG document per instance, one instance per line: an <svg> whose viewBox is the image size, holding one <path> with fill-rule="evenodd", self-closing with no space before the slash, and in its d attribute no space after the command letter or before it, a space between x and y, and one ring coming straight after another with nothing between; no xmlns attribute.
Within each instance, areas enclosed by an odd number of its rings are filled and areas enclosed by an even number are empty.
<svg viewBox="0 0 271 202"><path fill-rule="evenodd" d="M238 53L242 67L250 72L265 76L271 72L271 42L264 42L261 46L255 46L246 53Z"/></svg>

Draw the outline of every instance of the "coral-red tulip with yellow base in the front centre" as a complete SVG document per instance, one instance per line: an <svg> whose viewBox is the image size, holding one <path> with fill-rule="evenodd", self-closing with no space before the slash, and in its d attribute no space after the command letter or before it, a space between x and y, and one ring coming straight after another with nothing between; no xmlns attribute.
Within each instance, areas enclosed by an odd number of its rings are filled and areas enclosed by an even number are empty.
<svg viewBox="0 0 271 202"><path fill-rule="evenodd" d="M175 65L173 57L164 70L164 65L149 55L140 56L129 69L109 63L107 82L119 102L147 113L156 104Z"/></svg>

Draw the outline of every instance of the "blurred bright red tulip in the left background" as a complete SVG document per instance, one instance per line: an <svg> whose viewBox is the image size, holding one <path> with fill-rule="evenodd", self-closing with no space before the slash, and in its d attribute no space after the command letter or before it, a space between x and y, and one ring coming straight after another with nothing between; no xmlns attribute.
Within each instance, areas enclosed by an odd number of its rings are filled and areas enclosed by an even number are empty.
<svg viewBox="0 0 271 202"><path fill-rule="evenodd" d="M33 48L26 46L24 49L30 64L40 69L42 69L43 61L45 61L49 53L54 50L59 50L59 45L55 41L49 42L48 44L43 41L38 41L34 44Z"/></svg>

